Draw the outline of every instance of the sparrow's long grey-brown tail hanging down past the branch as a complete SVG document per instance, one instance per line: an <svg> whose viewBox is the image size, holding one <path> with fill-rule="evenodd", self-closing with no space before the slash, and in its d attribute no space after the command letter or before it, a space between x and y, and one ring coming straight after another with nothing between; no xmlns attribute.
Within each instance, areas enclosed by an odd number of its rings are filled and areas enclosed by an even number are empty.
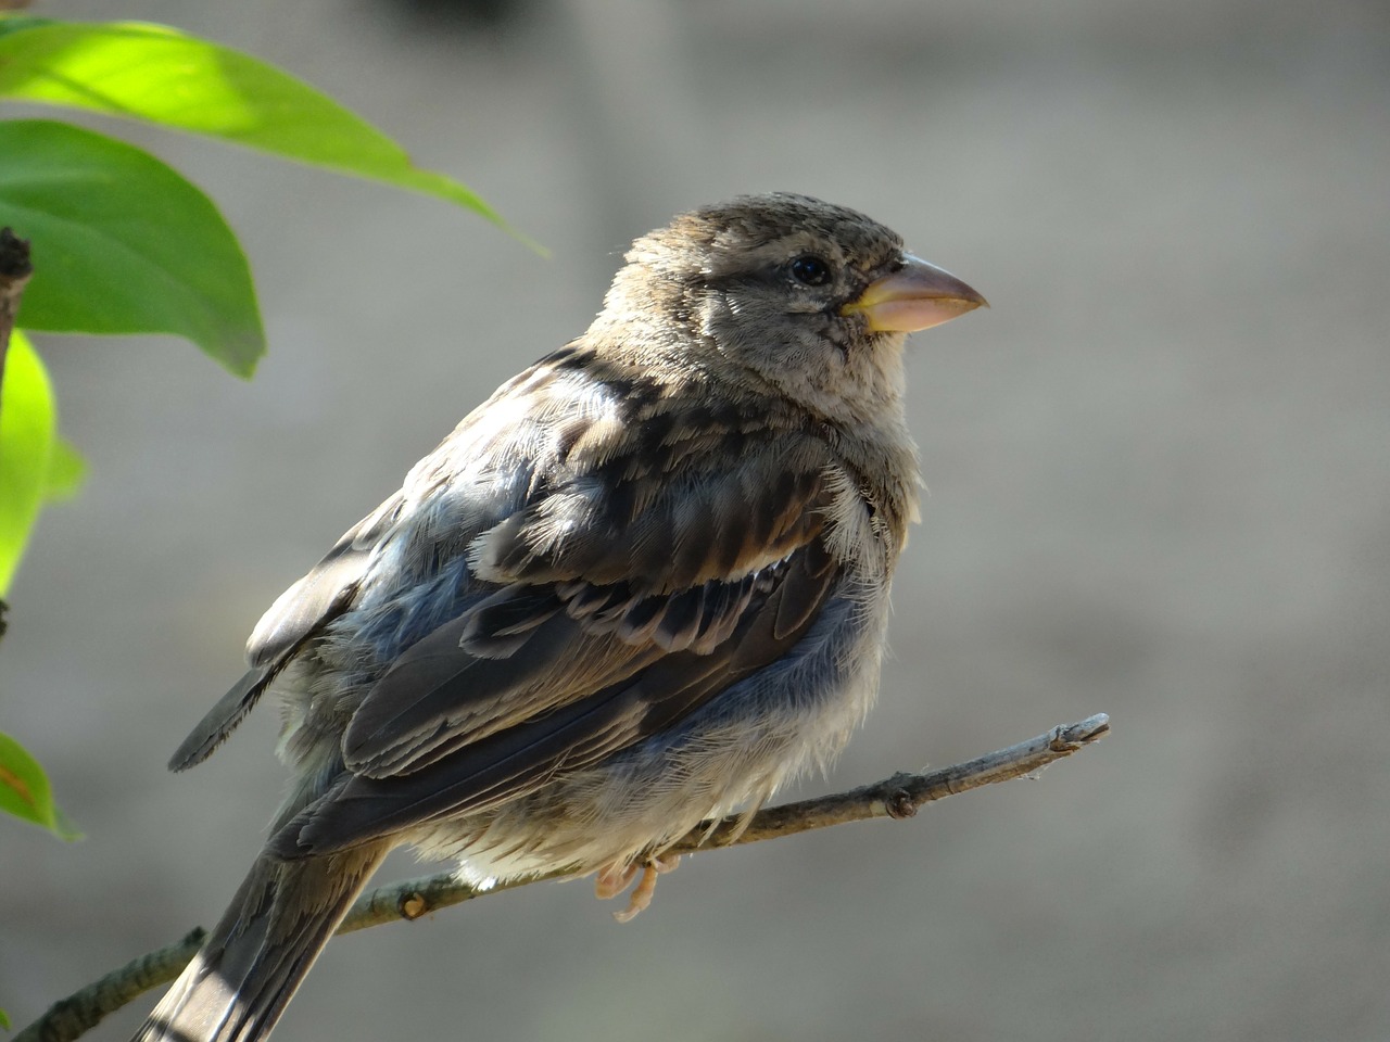
<svg viewBox="0 0 1390 1042"><path fill-rule="evenodd" d="M265 1038L386 850L293 861L261 854L132 1042Z"/></svg>

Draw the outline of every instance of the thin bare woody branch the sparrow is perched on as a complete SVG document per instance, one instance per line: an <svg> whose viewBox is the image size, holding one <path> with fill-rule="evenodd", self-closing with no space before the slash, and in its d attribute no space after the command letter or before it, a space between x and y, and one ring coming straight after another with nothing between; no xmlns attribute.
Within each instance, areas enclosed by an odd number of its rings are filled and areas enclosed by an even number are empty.
<svg viewBox="0 0 1390 1042"><path fill-rule="evenodd" d="M966 763L924 774L899 772L851 792L769 807L755 814L752 821L746 822L746 828L739 828L738 817L703 822L670 849L676 853L702 853L849 821L910 818L924 803L979 789L983 785L1036 775L1049 763L1070 756L1104 738L1109 731L1109 717L1098 713ZM395 920L417 920L431 911L461 904L474 898L571 875L574 873L549 873L491 888L463 882L456 871L407 879L364 893L348 913L338 932L350 934ZM140 992L178 977L196 954L202 938L203 931L196 929L177 945L161 948L114 970L96 984L56 1003L43 1017L15 1035L14 1042L71 1042Z"/></svg>

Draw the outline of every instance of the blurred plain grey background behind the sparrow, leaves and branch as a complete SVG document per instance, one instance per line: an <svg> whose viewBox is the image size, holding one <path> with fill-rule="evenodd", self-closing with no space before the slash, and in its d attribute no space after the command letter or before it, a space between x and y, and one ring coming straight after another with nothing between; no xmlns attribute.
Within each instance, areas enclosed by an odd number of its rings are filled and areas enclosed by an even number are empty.
<svg viewBox="0 0 1390 1042"><path fill-rule="evenodd" d="M626 243L788 189L990 311L910 345L931 493L878 710L828 782L1106 711L1048 770L329 946L282 1039L1390 1038L1390 11L1379 0L53 0L322 88L468 182L435 200L117 128L243 236L271 353L44 338L81 500L13 590L0 716L86 832L0 822L0 1006L215 918L282 772L263 710L164 761L261 610ZM42 264L42 257L40 257ZM409 860L395 874L417 871ZM120 1039L139 1009L93 1038Z"/></svg>

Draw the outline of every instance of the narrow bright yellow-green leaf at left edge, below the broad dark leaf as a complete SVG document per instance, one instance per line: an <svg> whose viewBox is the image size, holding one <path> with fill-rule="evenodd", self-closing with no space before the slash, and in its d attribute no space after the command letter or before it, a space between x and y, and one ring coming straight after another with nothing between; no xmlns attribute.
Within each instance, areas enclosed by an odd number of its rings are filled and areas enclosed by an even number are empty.
<svg viewBox="0 0 1390 1042"><path fill-rule="evenodd" d="M39 515L53 458L53 388L15 329L0 375L0 597L10 589Z"/></svg>

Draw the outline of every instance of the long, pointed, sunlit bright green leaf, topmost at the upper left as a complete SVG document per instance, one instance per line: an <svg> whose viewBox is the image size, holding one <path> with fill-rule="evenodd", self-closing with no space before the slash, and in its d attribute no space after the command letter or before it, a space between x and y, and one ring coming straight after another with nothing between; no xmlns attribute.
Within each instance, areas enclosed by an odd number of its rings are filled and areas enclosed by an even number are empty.
<svg viewBox="0 0 1390 1042"><path fill-rule="evenodd" d="M371 124L247 54L163 25L24 21L0 35L0 97L220 138L438 196L512 231L473 189L414 165Z"/></svg>

